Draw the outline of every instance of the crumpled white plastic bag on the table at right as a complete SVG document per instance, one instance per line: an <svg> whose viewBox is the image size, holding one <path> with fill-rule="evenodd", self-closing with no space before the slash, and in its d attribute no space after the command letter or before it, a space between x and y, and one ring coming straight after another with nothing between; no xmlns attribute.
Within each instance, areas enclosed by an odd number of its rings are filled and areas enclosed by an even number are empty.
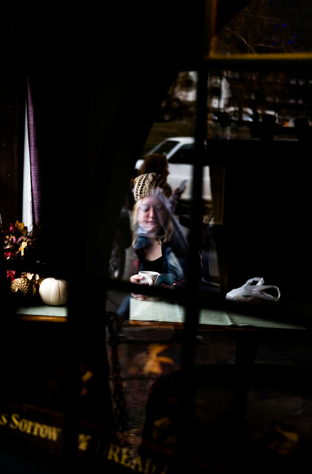
<svg viewBox="0 0 312 474"><path fill-rule="evenodd" d="M262 277L255 277L247 280L247 282L240 288L234 288L234 290L226 293L225 299L231 301L248 301L252 303L258 303L263 301L278 301L280 298L280 292L277 286L264 285ZM277 296L272 296L266 290L275 289Z"/></svg>

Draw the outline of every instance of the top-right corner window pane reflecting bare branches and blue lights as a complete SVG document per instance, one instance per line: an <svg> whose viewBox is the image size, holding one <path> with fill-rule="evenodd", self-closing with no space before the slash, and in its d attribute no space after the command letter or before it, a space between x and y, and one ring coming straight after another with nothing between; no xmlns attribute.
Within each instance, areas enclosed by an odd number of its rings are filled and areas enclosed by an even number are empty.
<svg viewBox="0 0 312 474"><path fill-rule="evenodd" d="M308 0L253 0L212 41L211 54L311 53Z"/></svg>

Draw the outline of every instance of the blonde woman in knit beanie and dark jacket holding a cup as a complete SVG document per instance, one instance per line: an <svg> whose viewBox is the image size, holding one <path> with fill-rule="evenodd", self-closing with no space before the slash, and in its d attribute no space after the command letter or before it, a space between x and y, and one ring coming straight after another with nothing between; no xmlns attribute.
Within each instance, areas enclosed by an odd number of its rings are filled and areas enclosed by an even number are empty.
<svg viewBox="0 0 312 474"><path fill-rule="evenodd" d="M141 174L134 180L133 195L134 254L130 282L140 283L139 271L142 270L174 273L173 285L164 285L164 288L176 290L185 283L189 244L172 215L164 176ZM139 301L148 299L139 293L132 296ZM129 297L121 303L118 315L129 319Z"/></svg>

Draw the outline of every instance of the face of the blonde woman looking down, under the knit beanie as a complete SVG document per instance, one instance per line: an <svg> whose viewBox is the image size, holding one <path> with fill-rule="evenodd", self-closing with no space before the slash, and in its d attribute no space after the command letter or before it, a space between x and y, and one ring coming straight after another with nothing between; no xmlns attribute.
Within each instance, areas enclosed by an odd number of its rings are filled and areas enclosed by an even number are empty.
<svg viewBox="0 0 312 474"><path fill-rule="evenodd" d="M137 220L139 226L151 234L163 227L168 210L158 196L145 196L139 203Z"/></svg>

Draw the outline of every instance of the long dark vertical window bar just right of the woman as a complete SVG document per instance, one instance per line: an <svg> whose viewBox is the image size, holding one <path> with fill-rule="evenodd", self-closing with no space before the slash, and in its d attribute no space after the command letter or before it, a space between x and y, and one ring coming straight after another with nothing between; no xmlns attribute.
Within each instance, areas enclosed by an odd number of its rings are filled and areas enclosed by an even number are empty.
<svg viewBox="0 0 312 474"><path fill-rule="evenodd" d="M185 305L184 338L182 346L182 377L185 391L181 394L179 438L177 451L178 467L188 470L192 466L195 447L192 445L194 427L194 397L196 394L195 349L199 319L197 293L199 288L199 249L202 225L202 164L204 141L207 135L207 85L208 69L202 65L198 70L198 86L195 121L195 153L193 189L191 201L190 260L187 274L187 302ZM182 472L182 471L181 471Z"/></svg>

